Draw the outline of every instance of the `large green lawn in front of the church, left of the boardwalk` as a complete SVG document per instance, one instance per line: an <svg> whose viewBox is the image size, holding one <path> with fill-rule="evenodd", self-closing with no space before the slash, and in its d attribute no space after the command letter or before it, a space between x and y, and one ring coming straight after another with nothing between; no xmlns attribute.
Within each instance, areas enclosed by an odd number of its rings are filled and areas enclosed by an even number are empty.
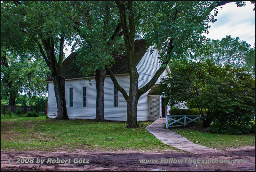
<svg viewBox="0 0 256 172"><path fill-rule="evenodd" d="M142 122L139 128L127 129L124 122L92 120L57 121L39 117L1 116L2 150L163 150L161 143Z"/></svg>

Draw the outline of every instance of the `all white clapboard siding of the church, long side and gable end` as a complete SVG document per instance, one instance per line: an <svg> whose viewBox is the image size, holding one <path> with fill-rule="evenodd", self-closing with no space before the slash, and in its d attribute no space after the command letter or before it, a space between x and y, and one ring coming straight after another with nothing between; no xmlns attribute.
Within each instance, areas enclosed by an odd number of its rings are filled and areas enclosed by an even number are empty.
<svg viewBox="0 0 256 172"><path fill-rule="evenodd" d="M139 88L148 83L155 72L159 69L159 52L154 50L153 54L146 52L140 63L137 65L139 73ZM159 77L156 83L159 83L161 77L166 76L167 71ZM77 119L95 119L96 114L96 85L95 78L91 78L92 86L88 80L75 79L66 80L65 95L66 105L69 118ZM129 95L130 79L129 74L116 75L116 80L123 87ZM73 107L69 107L69 88L73 87ZM82 88L86 87L87 92L87 107L82 106ZM137 108L137 120L148 120L148 92L140 97ZM123 95L119 92L119 107L113 107L114 84L109 76L106 76L104 83L104 116L106 120L126 121L127 103ZM53 89L53 82L48 82L48 117L55 118L57 115L57 104Z"/></svg>

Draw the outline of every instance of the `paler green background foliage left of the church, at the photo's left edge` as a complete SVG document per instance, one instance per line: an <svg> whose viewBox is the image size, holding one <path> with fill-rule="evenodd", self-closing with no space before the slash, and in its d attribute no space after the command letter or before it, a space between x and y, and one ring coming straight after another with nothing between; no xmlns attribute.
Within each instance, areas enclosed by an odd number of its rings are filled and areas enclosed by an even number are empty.
<svg viewBox="0 0 256 172"><path fill-rule="evenodd" d="M25 92L29 97L46 94L44 80L49 70L38 54L7 52L1 59L8 64L6 67L1 63L1 96L6 98L11 94L15 98L19 92Z"/></svg>

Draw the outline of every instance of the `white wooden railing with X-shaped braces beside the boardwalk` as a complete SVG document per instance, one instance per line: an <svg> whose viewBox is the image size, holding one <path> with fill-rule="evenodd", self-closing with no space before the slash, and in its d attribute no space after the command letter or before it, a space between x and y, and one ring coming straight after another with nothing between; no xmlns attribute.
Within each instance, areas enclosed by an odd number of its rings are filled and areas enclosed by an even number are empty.
<svg viewBox="0 0 256 172"><path fill-rule="evenodd" d="M173 119L173 117L180 117L179 119ZM194 119L191 119L189 117L196 117ZM200 115L166 115L166 128L168 129L169 127L181 127L181 126L186 126L186 125L193 125L189 124L192 121L195 121L197 124L200 124ZM171 123L169 123L169 119L171 120ZM183 120L182 120L183 119ZM187 122L186 122L186 119ZM196 121L198 119L198 121ZM181 120L183 122L181 122ZM182 125L172 125L175 122L179 122Z"/></svg>

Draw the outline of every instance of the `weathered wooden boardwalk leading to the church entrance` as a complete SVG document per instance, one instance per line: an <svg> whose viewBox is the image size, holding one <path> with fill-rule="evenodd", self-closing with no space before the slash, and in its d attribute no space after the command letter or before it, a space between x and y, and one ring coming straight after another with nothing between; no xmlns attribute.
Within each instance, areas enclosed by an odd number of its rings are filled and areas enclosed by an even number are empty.
<svg viewBox="0 0 256 172"><path fill-rule="evenodd" d="M146 129L164 144L190 153L208 154L221 152L213 148L197 145L169 129L163 129L163 122L166 122L166 118L159 118Z"/></svg>

